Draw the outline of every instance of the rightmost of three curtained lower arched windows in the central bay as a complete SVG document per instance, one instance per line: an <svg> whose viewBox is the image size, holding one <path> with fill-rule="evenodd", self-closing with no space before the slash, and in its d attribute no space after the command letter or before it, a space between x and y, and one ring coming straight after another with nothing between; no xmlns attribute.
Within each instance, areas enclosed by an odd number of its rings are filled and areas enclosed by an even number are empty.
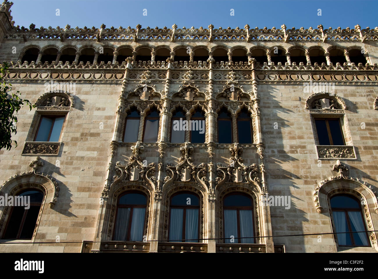
<svg viewBox="0 0 378 279"><path fill-rule="evenodd" d="M225 238L233 243L254 243L253 202L244 194L231 194L223 199ZM225 243L232 243L225 239Z"/></svg>

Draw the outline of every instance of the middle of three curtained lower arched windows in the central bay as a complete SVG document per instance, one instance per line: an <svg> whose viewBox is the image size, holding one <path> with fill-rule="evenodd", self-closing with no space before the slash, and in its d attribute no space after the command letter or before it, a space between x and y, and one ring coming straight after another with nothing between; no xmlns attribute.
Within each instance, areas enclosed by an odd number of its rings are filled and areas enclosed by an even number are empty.
<svg viewBox="0 0 378 279"><path fill-rule="evenodd" d="M179 193L170 199L169 241L198 242L200 200L191 193Z"/></svg>

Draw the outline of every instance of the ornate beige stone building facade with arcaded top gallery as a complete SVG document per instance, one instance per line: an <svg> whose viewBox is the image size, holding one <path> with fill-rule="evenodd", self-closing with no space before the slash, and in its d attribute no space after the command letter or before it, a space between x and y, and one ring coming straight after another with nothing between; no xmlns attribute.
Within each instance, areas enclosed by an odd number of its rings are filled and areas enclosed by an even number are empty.
<svg viewBox="0 0 378 279"><path fill-rule="evenodd" d="M0 251L378 250L377 27L20 28L11 5L0 8L0 59L36 108L20 110L18 146L0 151L0 195L42 198L30 237L6 237L16 211L0 208ZM204 134L173 132L178 115L204 121ZM55 124L38 140L43 119L60 123L54 140ZM198 213L198 240L169 241L180 193L198 199L184 209L184 222ZM144 212L143 240L130 240L134 225L116 237L126 194L145 198L131 209ZM232 194L251 203L249 243L243 228L228 240ZM358 201L359 221L334 197ZM369 231L350 245L336 234L342 210L349 229Z"/></svg>

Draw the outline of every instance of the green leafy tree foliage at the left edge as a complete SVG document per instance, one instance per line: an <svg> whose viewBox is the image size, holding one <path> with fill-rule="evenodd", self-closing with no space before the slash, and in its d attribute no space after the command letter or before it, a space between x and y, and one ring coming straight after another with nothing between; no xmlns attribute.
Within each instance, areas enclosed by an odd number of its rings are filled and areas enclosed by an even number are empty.
<svg viewBox="0 0 378 279"><path fill-rule="evenodd" d="M23 105L28 105L30 110L35 107L28 100L20 98L20 91L11 92L12 85L4 80L8 68L8 63L0 64L0 150L4 147L6 147L6 150L10 150L12 147L12 133L17 133L17 117L15 114ZM17 141L14 141L14 143L16 147Z"/></svg>

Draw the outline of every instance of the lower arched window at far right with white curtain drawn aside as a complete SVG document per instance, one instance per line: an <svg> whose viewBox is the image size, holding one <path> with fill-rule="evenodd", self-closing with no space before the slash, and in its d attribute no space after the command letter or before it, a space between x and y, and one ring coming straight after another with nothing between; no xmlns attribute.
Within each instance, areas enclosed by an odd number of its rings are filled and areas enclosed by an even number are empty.
<svg viewBox="0 0 378 279"><path fill-rule="evenodd" d="M351 195L335 195L331 209L339 246L370 246L367 233L353 233L366 231L359 200Z"/></svg>

